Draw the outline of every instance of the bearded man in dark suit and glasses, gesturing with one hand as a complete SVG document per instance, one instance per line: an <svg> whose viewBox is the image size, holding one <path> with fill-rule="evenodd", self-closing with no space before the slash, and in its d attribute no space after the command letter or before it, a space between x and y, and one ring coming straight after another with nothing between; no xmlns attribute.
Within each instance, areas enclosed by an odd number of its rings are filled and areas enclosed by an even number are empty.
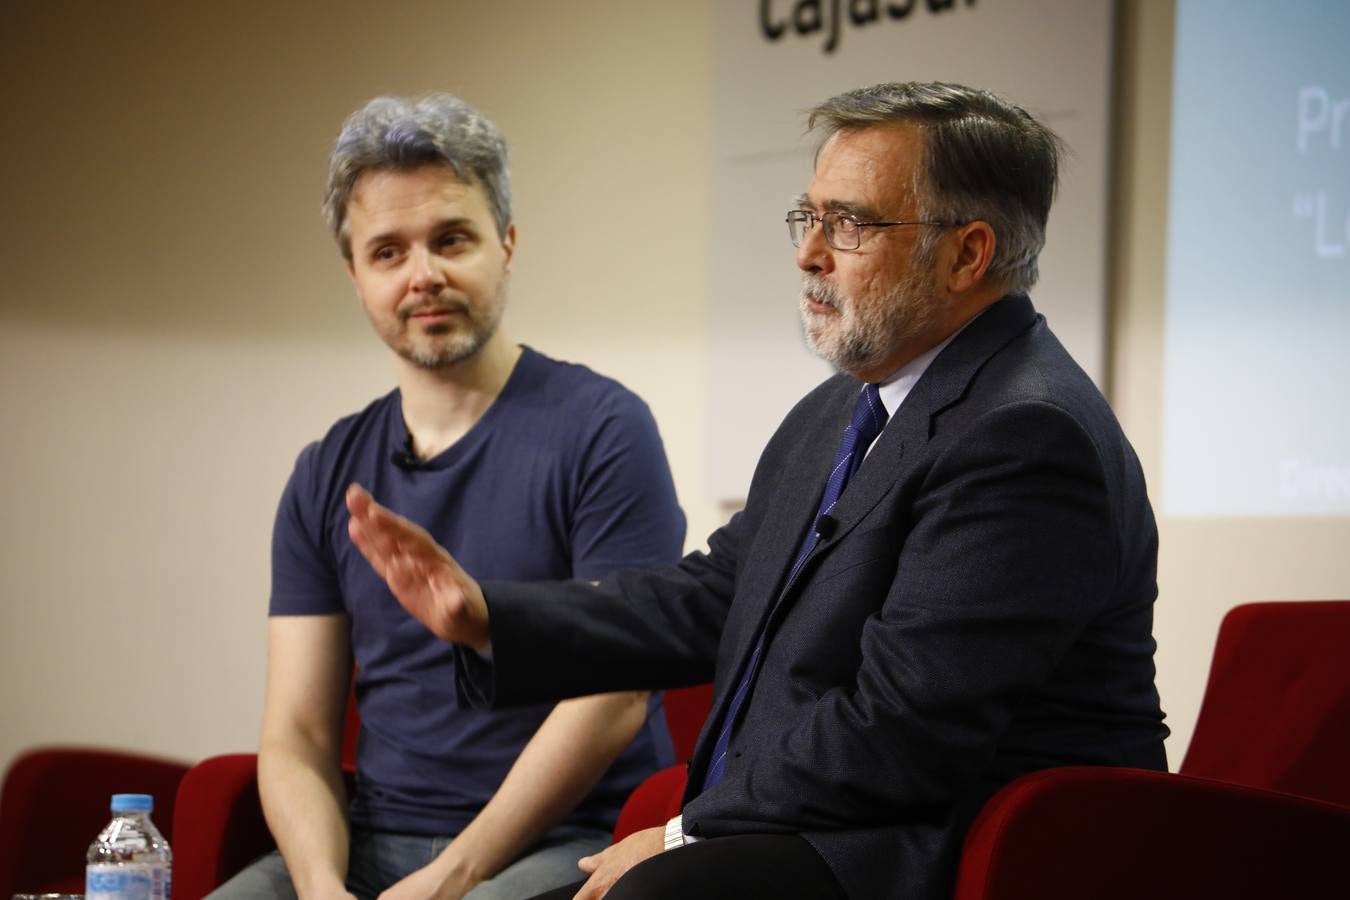
<svg viewBox="0 0 1350 900"><path fill-rule="evenodd" d="M583 860L580 897L944 897L1017 776L1165 766L1143 476L1025 294L1057 139L942 84L849 92L811 127L788 229L807 344L840 374L788 413L707 553L479 586L348 494L400 600L479 650L459 657L471 699L714 677L682 815Z"/></svg>

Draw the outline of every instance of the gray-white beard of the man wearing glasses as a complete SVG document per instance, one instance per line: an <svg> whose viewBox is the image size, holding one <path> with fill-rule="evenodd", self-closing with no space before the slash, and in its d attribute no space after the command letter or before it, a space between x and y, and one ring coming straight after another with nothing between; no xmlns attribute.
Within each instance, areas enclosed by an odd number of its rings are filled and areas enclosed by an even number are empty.
<svg viewBox="0 0 1350 900"><path fill-rule="evenodd" d="M933 331L937 324L940 302L930 271L911 264L891 290L861 302L845 297L819 275L803 274L801 313L806 348L842 372L876 370L902 343ZM807 300L833 306L834 314L810 312Z"/></svg>

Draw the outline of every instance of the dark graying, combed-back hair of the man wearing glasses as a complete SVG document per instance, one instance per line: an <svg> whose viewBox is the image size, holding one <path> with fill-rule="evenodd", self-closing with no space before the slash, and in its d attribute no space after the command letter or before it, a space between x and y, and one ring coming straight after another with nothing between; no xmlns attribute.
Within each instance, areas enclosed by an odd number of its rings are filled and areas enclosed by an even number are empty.
<svg viewBox="0 0 1350 900"><path fill-rule="evenodd" d="M909 121L923 135L925 159L915 173L919 219L994 228L988 277L1026 291L1037 279L1045 224L1058 184L1064 143L1044 124L987 90L944 82L896 82L830 97L809 112L821 146L841 131ZM919 236L919 258L930 258L941 232Z"/></svg>

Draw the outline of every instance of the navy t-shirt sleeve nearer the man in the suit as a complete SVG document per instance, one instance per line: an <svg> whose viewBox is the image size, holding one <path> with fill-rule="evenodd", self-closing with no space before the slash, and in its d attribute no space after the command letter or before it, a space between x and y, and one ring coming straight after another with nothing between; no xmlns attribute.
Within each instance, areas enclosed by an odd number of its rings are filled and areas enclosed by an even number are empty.
<svg viewBox="0 0 1350 900"><path fill-rule="evenodd" d="M674 563L684 548L684 513L647 403L617 389L587 421L572 576L593 580L620 568Z"/></svg>

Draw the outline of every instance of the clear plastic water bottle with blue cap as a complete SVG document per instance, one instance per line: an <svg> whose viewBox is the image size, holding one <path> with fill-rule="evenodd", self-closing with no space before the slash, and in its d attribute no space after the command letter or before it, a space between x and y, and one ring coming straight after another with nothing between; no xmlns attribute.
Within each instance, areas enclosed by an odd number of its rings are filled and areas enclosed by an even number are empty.
<svg viewBox="0 0 1350 900"><path fill-rule="evenodd" d="M89 845L85 900L169 900L173 853L150 820L148 793L113 793L112 822Z"/></svg>

